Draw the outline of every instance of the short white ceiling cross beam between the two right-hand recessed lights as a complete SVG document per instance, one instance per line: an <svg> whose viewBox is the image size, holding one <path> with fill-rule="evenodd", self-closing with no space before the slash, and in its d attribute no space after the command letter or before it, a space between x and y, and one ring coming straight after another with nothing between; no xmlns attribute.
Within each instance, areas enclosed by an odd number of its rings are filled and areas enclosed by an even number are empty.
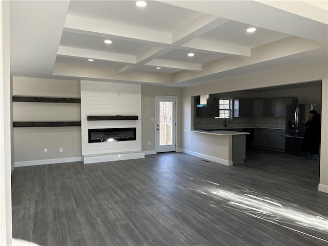
<svg viewBox="0 0 328 246"><path fill-rule="evenodd" d="M218 40L204 40L202 38L195 38L188 43L182 45L183 48L192 51L199 51L209 54L224 54L226 56L247 58L251 56L251 49L247 47L237 46Z"/></svg>

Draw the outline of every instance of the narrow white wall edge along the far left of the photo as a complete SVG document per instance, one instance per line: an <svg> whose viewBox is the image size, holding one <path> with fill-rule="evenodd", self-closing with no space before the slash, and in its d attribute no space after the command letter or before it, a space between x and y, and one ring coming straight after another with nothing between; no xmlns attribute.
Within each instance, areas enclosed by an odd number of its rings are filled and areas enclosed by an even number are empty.
<svg viewBox="0 0 328 246"><path fill-rule="evenodd" d="M11 245L9 1L0 1L0 245Z"/></svg>

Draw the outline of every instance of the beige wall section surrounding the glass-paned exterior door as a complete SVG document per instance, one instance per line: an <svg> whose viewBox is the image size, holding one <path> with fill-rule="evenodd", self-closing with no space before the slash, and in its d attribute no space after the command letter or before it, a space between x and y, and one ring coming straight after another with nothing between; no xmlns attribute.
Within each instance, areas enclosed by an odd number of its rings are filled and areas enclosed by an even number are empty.
<svg viewBox="0 0 328 246"><path fill-rule="evenodd" d="M142 113L142 151L155 151L155 96L177 96L177 148L180 148L181 132L181 88L161 86L141 86L141 113ZM151 145L148 145L148 142Z"/></svg>

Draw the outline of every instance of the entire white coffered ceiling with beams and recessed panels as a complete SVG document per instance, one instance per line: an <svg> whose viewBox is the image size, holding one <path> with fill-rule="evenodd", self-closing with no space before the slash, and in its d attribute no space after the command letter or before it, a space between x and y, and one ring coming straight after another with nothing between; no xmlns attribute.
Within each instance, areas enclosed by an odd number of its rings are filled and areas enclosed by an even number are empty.
<svg viewBox="0 0 328 246"><path fill-rule="evenodd" d="M27 77L185 87L328 54L327 1L11 1L10 32Z"/></svg>

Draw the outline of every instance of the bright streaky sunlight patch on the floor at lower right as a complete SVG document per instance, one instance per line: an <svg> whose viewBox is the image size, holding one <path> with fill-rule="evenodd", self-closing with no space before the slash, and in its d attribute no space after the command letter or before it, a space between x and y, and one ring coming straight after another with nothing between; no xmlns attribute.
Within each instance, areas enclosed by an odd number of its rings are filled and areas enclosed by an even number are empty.
<svg viewBox="0 0 328 246"><path fill-rule="evenodd" d="M218 183L198 179L197 181L210 182L216 185L204 186L202 189L187 188L202 195L210 196L212 199L209 202L212 207L223 206L234 209L249 216L277 224L283 228L328 242L328 218L324 218L313 211L301 208L297 204L277 201L269 197L261 197L257 192L242 189L226 190L221 188ZM223 201L223 203L213 202L213 198Z"/></svg>

